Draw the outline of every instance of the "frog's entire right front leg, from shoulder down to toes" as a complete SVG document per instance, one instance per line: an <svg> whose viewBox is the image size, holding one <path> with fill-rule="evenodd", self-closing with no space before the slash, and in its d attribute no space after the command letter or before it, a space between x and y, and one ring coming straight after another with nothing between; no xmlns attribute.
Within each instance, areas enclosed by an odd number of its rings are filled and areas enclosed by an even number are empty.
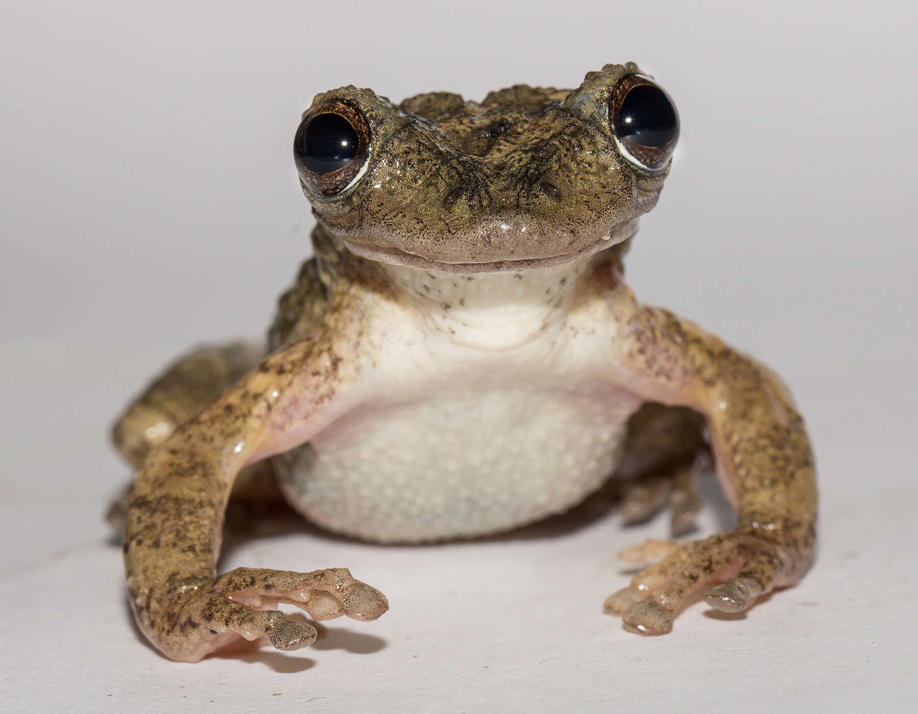
<svg viewBox="0 0 918 714"><path fill-rule="evenodd" d="M664 634L700 588L709 588L711 607L738 612L794 585L812 560L817 495L810 442L787 387L665 310L636 308L622 344L623 385L707 418L718 478L739 522L635 575L606 610L628 630Z"/></svg>

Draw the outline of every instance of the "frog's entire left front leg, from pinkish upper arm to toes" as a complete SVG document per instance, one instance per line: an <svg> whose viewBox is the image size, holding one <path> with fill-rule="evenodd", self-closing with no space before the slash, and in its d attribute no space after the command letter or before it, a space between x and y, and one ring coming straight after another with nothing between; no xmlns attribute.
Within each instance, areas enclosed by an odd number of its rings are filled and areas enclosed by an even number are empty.
<svg viewBox="0 0 918 714"><path fill-rule="evenodd" d="M141 630L163 653L195 662L238 636L265 636L278 649L315 639L276 603L316 619L375 619L388 607L347 570L235 570L215 578L224 510L246 463L308 441L365 392L355 358L321 329L266 358L211 407L151 452L129 509L125 568ZM353 349L353 340L344 342Z"/></svg>

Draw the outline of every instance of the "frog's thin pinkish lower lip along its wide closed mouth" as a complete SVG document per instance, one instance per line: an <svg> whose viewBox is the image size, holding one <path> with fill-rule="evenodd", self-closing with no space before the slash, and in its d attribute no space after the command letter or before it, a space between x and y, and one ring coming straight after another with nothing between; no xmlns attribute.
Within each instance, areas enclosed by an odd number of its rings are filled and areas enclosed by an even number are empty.
<svg viewBox="0 0 918 714"><path fill-rule="evenodd" d="M578 258L592 255L595 252L610 248L617 243L624 242L633 237L638 229L638 218L625 221L612 226L609 233L604 233L599 239L594 240L585 248L568 253L558 253L541 258L503 259L482 262L444 262L426 258L417 253L404 251L399 248L355 243L344 237L339 237L347 249L361 258L376 262L386 262L389 265L408 265L412 268L425 268L442 273L504 273L519 272L524 270L538 270L561 265L565 262L576 261Z"/></svg>

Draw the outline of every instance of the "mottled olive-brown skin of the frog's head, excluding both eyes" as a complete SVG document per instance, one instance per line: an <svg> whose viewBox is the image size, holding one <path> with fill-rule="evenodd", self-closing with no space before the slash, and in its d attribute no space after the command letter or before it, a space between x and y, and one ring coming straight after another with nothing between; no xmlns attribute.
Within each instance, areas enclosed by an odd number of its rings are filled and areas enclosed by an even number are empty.
<svg viewBox="0 0 918 714"><path fill-rule="evenodd" d="M304 190L321 226L374 256L463 273L569 260L610 232L633 235L663 186L666 172L623 170L596 126L610 85L635 72L608 65L573 92L518 85L481 104L436 93L397 107L355 87L318 95L314 106L334 97L363 109L383 148L344 195Z"/></svg>

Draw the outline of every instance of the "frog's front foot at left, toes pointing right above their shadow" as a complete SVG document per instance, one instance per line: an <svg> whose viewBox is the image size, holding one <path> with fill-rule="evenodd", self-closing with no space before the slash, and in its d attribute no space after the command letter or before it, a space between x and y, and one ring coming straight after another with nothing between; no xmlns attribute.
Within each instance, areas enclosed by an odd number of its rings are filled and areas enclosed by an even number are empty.
<svg viewBox="0 0 918 714"><path fill-rule="evenodd" d="M270 609L278 603L295 605L316 620L341 615L371 620L389 608L386 596L355 580L346 568L312 573L237 568L202 589L185 602L173 631L160 641L174 660L197 662L237 637L266 637L278 650L312 644L316 629Z"/></svg>

